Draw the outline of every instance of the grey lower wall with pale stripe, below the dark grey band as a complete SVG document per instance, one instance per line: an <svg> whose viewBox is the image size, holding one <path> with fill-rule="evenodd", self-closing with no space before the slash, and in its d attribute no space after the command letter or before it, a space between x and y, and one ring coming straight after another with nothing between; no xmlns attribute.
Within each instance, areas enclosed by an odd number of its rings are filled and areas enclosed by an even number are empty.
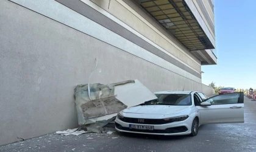
<svg viewBox="0 0 256 152"><path fill-rule="evenodd" d="M91 83L138 79L151 91L202 91L193 72L59 2L13 2L0 1L0 145L76 127L74 88L87 83L95 58Z"/></svg>

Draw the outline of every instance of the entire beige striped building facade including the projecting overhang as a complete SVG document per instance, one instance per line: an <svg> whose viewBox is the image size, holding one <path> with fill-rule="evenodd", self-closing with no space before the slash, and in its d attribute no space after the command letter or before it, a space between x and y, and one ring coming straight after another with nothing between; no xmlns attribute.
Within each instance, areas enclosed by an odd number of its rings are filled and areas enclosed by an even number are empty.
<svg viewBox="0 0 256 152"><path fill-rule="evenodd" d="M202 91L212 0L1 0L0 145L77 126L76 85Z"/></svg>

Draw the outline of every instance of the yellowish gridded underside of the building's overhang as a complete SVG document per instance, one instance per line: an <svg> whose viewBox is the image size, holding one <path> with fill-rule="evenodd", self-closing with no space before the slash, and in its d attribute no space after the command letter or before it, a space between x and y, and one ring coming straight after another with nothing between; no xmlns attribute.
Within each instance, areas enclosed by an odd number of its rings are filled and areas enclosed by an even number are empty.
<svg viewBox="0 0 256 152"><path fill-rule="evenodd" d="M214 49L183 0L134 0L189 50Z"/></svg>

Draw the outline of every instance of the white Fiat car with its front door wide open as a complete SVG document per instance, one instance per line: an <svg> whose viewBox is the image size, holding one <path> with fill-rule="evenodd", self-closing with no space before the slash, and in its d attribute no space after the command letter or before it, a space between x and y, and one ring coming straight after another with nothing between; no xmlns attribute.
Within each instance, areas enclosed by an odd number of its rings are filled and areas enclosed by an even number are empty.
<svg viewBox="0 0 256 152"><path fill-rule="evenodd" d="M140 134L196 136L200 125L244 123L243 92L208 98L201 92L155 92L155 100L120 111L117 131Z"/></svg>

